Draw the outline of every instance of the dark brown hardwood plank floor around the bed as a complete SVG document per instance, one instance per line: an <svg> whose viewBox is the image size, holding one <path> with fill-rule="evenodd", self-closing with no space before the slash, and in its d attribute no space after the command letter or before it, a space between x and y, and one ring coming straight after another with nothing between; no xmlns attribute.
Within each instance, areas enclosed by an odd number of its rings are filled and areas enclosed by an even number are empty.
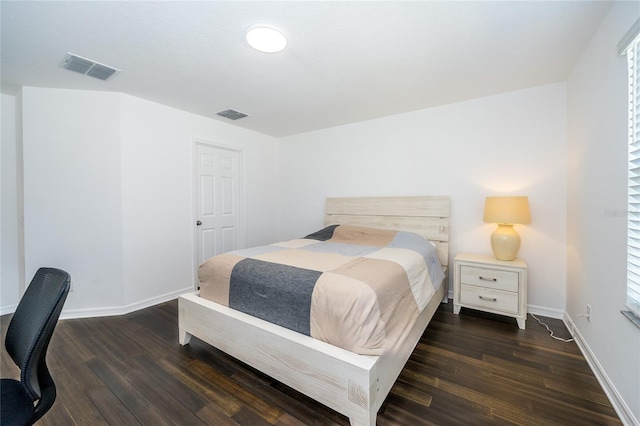
<svg viewBox="0 0 640 426"><path fill-rule="evenodd" d="M620 424L575 343L527 319L441 305L378 413L379 425ZM9 316L0 318L2 338ZM543 319L557 335L559 320ZM2 352L2 376L18 370ZM62 320L48 363L58 398L42 425L347 425L199 341L180 346L177 303Z"/></svg>

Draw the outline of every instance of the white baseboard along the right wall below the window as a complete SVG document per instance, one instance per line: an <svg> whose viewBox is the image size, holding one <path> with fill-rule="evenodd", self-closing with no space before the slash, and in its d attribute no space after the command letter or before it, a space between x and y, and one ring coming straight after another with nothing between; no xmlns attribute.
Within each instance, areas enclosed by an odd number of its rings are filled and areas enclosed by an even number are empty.
<svg viewBox="0 0 640 426"><path fill-rule="evenodd" d="M618 414L618 417L620 417L620 421L622 422L622 424L625 426L639 425L640 422L638 422L638 419L635 418L629 406L624 402L624 399L622 399L622 397L618 393L618 390L609 379L609 376L607 376L607 373L602 368L602 365L600 365L600 362L596 358L595 354L591 351L591 348L580 333L580 330L575 326L569 314L565 312L562 320L573 336L573 339L582 352L582 355L587 360L587 363L589 364L589 367L591 367L591 371L593 371L593 374L596 376L596 379L600 383L600 386L602 386L604 393L609 398L613 409L616 410L616 413Z"/></svg>

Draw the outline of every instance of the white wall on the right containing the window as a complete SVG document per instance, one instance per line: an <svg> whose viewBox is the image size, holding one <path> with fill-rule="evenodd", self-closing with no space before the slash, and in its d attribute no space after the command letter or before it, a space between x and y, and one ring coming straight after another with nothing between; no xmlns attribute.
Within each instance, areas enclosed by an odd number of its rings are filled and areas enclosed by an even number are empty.
<svg viewBox="0 0 640 426"><path fill-rule="evenodd" d="M596 373L616 389L614 402L621 397L635 422L640 330L620 313L626 301L627 68L616 44L639 16L637 3L614 3L568 80L567 315ZM587 304L590 322L577 316Z"/></svg>

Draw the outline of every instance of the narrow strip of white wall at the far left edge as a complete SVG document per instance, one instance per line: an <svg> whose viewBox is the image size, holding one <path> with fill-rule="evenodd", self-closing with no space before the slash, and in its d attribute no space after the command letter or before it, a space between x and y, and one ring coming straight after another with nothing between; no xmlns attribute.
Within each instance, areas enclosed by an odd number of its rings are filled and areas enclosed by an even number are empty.
<svg viewBox="0 0 640 426"><path fill-rule="evenodd" d="M0 106L0 315L13 312L19 296L18 244L18 145L16 136L16 98L2 95Z"/></svg>

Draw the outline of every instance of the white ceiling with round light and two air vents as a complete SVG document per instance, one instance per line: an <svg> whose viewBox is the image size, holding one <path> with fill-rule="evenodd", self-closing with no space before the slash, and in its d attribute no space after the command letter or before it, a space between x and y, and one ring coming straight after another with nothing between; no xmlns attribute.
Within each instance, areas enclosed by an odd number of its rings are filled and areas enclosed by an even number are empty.
<svg viewBox="0 0 640 426"><path fill-rule="evenodd" d="M564 81L610 5L2 0L2 92L123 92L280 137ZM287 48L252 50L257 24ZM67 52L122 72L67 71Z"/></svg>

